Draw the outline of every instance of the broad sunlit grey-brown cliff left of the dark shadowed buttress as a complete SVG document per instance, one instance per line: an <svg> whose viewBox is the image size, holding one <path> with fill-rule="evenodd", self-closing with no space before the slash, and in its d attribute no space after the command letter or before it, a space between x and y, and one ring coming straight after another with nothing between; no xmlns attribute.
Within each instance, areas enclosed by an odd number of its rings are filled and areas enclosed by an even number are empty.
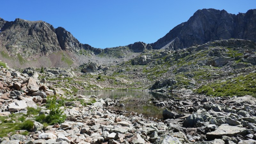
<svg viewBox="0 0 256 144"><path fill-rule="evenodd" d="M16 19L5 22L0 41L11 56L18 53L25 57L47 56L60 50L55 29L44 21Z"/></svg>

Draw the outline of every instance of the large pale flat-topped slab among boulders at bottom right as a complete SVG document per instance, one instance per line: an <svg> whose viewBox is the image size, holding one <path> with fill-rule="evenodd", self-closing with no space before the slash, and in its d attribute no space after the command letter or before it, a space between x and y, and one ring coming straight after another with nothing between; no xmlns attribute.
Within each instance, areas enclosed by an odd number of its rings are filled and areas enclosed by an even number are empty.
<svg viewBox="0 0 256 144"><path fill-rule="evenodd" d="M245 136L247 132L246 128L230 126L230 125L220 125L214 132L206 133L206 137L210 139L221 138L222 136L233 137L237 134Z"/></svg>

